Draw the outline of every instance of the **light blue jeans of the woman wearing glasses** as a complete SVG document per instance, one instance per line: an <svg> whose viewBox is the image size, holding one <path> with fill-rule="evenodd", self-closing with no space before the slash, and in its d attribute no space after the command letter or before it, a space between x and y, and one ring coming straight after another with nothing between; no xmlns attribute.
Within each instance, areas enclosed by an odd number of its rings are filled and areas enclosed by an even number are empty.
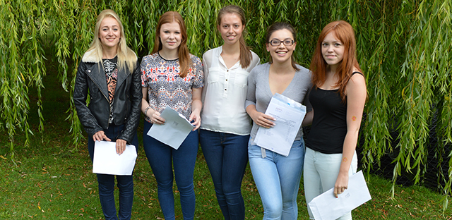
<svg viewBox="0 0 452 220"><path fill-rule="evenodd" d="M297 194L302 177L304 140L295 140L289 156L248 143L249 166L263 205L263 219L297 219Z"/></svg>

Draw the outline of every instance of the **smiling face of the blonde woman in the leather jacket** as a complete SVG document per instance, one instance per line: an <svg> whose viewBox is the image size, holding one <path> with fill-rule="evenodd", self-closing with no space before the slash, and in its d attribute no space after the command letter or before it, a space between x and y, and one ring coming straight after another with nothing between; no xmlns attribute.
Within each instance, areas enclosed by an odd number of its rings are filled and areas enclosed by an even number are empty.
<svg viewBox="0 0 452 220"><path fill-rule="evenodd" d="M100 23L99 27L99 39L102 43L102 47L109 47L116 49L121 39L121 29L116 19L112 17L105 17Z"/></svg>

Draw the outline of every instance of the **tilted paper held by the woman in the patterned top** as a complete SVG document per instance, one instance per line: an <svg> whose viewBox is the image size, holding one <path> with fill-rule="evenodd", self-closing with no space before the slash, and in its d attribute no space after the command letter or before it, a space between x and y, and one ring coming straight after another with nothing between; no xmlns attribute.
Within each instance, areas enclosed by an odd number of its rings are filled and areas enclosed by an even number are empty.
<svg viewBox="0 0 452 220"><path fill-rule="evenodd" d="M165 118L165 123L162 125L153 124L148 135L174 149L178 149L195 126L186 120L185 116L168 106L162 111L160 117Z"/></svg>

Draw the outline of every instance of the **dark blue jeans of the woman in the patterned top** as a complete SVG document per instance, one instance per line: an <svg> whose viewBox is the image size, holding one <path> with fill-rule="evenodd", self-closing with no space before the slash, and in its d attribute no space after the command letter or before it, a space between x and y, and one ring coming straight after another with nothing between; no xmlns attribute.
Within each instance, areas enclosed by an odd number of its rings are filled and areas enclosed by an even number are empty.
<svg viewBox="0 0 452 220"><path fill-rule="evenodd" d="M150 168L153 170L157 181L158 200L163 216L165 220L175 219L172 191L174 166L174 177L180 193L182 214L184 219L194 219L193 174L196 154L198 154L198 131L191 131L179 149L174 149L147 135L151 126L152 124L148 121L144 122L143 146Z"/></svg>

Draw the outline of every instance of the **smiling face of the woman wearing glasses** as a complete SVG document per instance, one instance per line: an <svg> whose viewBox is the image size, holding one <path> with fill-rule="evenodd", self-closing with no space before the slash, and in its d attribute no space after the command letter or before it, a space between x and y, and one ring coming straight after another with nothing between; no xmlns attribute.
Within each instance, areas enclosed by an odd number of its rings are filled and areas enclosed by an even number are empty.
<svg viewBox="0 0 452 220"><path fill-rule="evenodd" d="M289 42L290 40L295 41L292 32L287 29L276 30L270 35L270 42L275 39L281 42L279 46L272 46L269 42L266 44L272 61L277 63L291 62L291 57L297 43L294 42L292 45L286 45L284 42Z"/></svg>

